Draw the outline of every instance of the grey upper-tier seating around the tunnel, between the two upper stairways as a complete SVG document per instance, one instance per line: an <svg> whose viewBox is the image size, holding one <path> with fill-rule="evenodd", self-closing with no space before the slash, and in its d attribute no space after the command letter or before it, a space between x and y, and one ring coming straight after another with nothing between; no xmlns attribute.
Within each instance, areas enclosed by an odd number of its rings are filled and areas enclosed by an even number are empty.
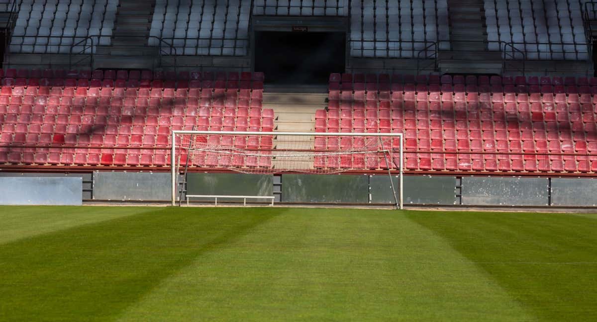
<svg viewBox="0 0 597 322"><path fill-rule="evenodd" d="M253 14L273 16L347 16L347 2L254 2ZM356 57L417 57L440 41L449 49L447 0L357 1L350 13L350 54ZM178 55L246 55L250 1L156 1L150 35L173 44ZM158 39L150 38L150 45Z"/></svg>

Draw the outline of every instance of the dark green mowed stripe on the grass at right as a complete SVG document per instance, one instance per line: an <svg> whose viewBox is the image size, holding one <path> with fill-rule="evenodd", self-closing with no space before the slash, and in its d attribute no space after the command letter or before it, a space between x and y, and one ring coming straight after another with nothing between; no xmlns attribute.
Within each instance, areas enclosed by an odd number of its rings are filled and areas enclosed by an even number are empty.
<svg viewBox="0 0 597 322"><path fill-rule="evenodd" d="M546 213L409 212L540 320L597 320L597 220Z"/></svg>

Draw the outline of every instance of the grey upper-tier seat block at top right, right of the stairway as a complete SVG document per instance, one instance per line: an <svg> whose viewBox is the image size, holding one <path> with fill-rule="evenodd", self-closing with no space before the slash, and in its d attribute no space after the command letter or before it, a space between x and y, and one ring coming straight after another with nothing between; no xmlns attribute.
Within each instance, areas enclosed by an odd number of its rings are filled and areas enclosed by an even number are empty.
<svg viewBox="0 0 597 322"><path fill-rule="evenodd" d="M531 60L587 60L583 4L578 0L485 0L489 49L500 50L498 41L514 42Z"/></svg>

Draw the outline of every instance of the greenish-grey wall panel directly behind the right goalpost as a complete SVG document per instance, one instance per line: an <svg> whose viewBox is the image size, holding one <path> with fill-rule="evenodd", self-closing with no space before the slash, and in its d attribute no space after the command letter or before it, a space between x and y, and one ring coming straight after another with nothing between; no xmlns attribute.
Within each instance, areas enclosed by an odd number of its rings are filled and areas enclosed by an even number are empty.
<svg viewBox="0 0 597 322"><path fill-rule="evenodd" d="M396 194L399 178L392 177ZM370 177L371 203L394 203L392 187L387 175ZM456 204L456 177L433 177L429 175L404 177L405 205L454 205Z"/></svg>

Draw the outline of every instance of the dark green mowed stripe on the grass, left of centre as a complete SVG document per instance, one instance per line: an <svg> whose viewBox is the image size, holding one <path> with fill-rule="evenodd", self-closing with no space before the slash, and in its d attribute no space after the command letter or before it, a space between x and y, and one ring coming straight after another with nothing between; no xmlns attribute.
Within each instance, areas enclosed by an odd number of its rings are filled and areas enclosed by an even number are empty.
<svg viewBox="0 0 597 322"><path fill-rule="evenodd" d="M166 208L0 245L0 320L113 320L284 209Z"/></svg>

